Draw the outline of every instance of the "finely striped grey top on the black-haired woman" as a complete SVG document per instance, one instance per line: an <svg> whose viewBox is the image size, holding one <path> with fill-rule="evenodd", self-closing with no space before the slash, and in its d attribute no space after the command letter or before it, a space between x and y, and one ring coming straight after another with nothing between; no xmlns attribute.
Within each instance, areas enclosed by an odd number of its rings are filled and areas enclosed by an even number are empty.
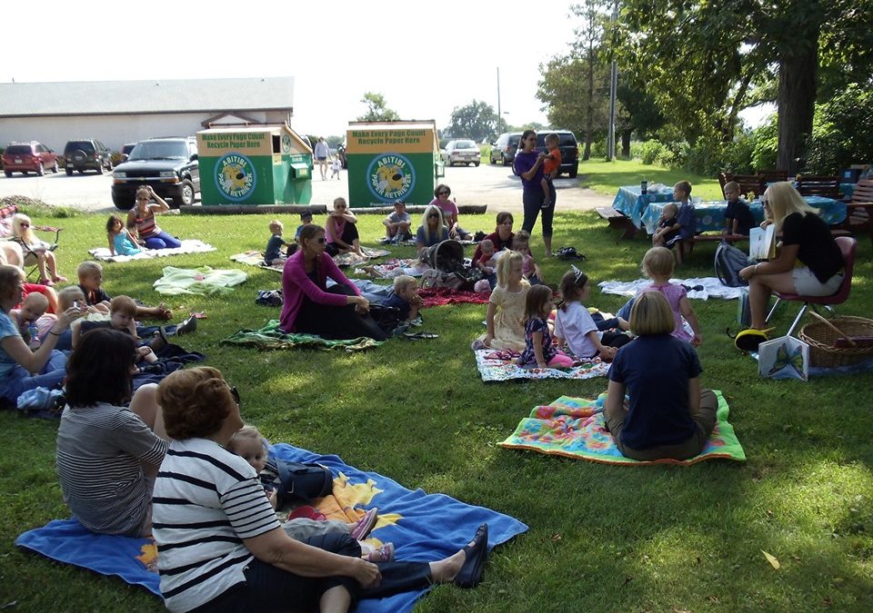
<svg viewBox="0 0 873 613"><path fill-rule="evenodd" d="M139 536L151 499L143 464L158 466L166 446L130 410L66 406L55 451L64 501L92 532Z"/></svg>

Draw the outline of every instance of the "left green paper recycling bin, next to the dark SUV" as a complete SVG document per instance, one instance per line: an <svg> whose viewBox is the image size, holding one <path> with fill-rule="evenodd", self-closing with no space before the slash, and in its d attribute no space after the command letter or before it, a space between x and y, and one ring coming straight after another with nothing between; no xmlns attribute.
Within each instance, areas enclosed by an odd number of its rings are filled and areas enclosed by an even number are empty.
<svg viewBox="0 0 873 613"><path fill-rule="evenodd" d="M308 204L312 150L287 124L210 128L197 133L200 201Z"/></svg>

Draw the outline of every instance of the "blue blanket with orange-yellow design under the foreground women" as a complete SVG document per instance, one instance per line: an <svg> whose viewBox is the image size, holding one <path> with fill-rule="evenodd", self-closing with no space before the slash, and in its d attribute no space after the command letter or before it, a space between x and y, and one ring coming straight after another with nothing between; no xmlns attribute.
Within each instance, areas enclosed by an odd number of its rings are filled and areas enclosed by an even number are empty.
<svg viewBox="0 0 873 613"><path fill-rule="evenodd" d="M373 536L383 542L393 542L398 560L445 558L466 545L483 522L488 524L489 549L527 531L525 524L508 515L474 507L443 494L406 489L375 472L357 470L338 456L319 456L286 444L274 445L272 452L284 460L319 462L328 467L334 477L340 473L345 475L346 487L366 488L371 495L366 508L378 507L380 517L392 519L385 526L380 522ZM127 583L143 586L156 596L161 595L152 539L97 535L83 528L76 519L55 519L43 528L25 532L15 539L15 545L59 562L115 575ZM411 611L416 600L427 591L421 589L390 598L362 600L356 610L361 613Z"/></svg>

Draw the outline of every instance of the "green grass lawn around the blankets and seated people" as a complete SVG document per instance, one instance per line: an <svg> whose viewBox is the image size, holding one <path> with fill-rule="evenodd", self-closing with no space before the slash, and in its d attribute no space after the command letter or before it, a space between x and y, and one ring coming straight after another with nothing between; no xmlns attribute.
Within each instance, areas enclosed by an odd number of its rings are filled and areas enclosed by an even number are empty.
<svg viewBox="0 0 873 613"><path fill-rule="evenodd" d="M612 169L621 168L621 173ZM635 163L585 163L587 181L672 183L681 175ZM607 170L609 172L607 172ZM618 175L618 176L617 176ZM704 192L707 189L702 185ZM613 188L610 188L612 193ZM263 249L265 215L167 217L161 225L200 238L217 252L152 262L106 264L105 289L147 303L162 300L152 282L166 265L234 266L228 256ZM296 217L284 218L289 232ZM316 217L316 222L323 221ZM87 248L105 243L105 216L80 215L65 227L57 252L73 276ZM494 218L467 217L471 230ZM520 225L520 220L517 220ZM359 223L365 244L381 235L376 216ZM636 279L644 240L617 234L590 213L558 213L556 244L587 254L593 282ZM533 247L541 253L538 229ZM860 241L850 300L839 311L869 314L873 301L870 242ZM712 274L715 245L697 246L687 276ZM411 256L412 248L396 254ZM567 263L539 261L557 281ZM376 351L257 352L220 346L234 331L260 327L277 308L256 306L259 289L279 275L245 267L248 281L226 298L169 297L176 321L189 311L208 319L186 348L239 386L244 418L274 442L336 453L410 489L443 492L512 515L530 530L496 549L477 589L441 586L417 610L442 611L737 611L873 609L873 375L770 381L736 351L736 302L693 302L704 343L704 385L724 391L748 462L692 467L628 468L502 450L531 407L562 394L593 398L606 380L483 383L469 343L484 331L485 307L424 311L435 341L389 341ZM623 302L594 292L591 305L615 311ZM788 327L796 307L782 312ZM21 532L69 516L55 476L56 422L0 413L0 607L16 611L159 611L161 602L120 579L55 564L15 549ZM776 556L773 569L761 550Z"/></svg>

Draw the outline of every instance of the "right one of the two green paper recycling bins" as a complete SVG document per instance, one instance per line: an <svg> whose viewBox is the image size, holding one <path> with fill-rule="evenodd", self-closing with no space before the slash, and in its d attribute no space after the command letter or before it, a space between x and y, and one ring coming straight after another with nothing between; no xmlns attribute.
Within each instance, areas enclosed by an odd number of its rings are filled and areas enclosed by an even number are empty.
<svg viewBox="0 0 873 613"><path fill-rule="evenodd" d="M436 122L349 122L346 155L350 206L434 199L441 163Z"/></svg>

